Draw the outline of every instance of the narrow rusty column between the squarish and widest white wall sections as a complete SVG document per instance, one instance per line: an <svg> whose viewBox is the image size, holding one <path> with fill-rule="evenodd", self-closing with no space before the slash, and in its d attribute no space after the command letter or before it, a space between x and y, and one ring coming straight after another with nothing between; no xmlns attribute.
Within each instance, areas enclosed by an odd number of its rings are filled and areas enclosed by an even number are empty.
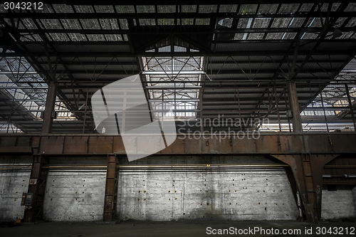
<svg viewBox="0 0 356 237"><path fill-rule="evenodd" d="M119 172L116 154L108 154L108 167L106 170L104 221L113 221L116 218L117 181Z"/></svg>

